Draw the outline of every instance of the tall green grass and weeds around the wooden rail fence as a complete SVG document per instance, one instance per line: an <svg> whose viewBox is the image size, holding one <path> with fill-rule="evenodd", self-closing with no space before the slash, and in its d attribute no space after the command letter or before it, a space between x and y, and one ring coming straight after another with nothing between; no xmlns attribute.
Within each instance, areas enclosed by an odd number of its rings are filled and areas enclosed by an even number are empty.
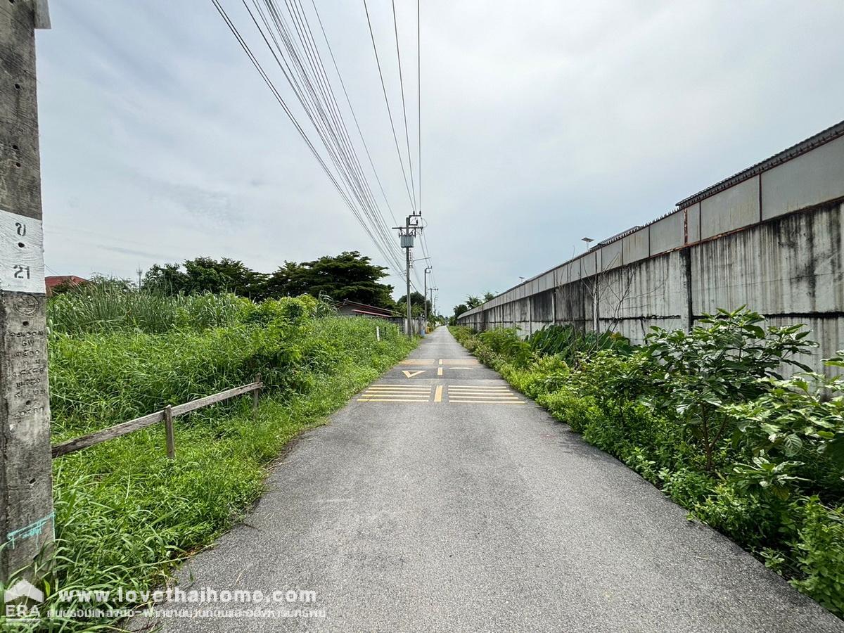
<svg viewBox="0 0 844 633"><path fill-rule="evenodd" d="M96 319L94 300L102 303ZM122 300L116 295L111 315L107 293L51 300L54 446L166 405L177 412L177 404L230 387L248 392L173 419L173 458L156 419L53 460L56 569L42 610L105 612L126 605L57 605L57 592L149 592L164 584L173 565L212 544L257 500L268 464L292 438L322 424L416 344L387 322L338 317L306 295L259 304L234 295L149 295L154 309L134 312ZM90 630L115 619L57 617L51 625Z"/></svg>

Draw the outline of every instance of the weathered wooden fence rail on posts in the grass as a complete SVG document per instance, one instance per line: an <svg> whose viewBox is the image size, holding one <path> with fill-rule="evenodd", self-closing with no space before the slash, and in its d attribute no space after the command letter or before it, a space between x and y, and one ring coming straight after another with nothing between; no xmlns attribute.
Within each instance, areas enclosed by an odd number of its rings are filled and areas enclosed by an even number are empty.
<svg viewBox="0 0 844 633"><path fill-rule="evenodd" d="M70 452L81 451L83 448L100 444L100 442L125 436L127 433L132 433L136 430L145 429L157 422L164 422L167 436L167 457L173 459L173 457L176 457L173 418L178 415L188 414L191 411L197 410L197 408L208 407L212 404L220 403L229 398L235 398L235 396L241 396L249 392L252 392L252 411L257 412L258 395L262 387L263 382L261 381L261 376L256 376L255 382L251 382L248 385L227 389L225 392L214 393L214 395L206 396L205 398L197 398L196 400L191 400L189 403L176 404L175 407L168 404L165 408L156 411L154 414L143 415L140 418L130 419L128 422L122 422L119 425L89 433L87 436L76 437L73 440L54 444L52 446L52 456L56 458L67 455Z"/></svg>

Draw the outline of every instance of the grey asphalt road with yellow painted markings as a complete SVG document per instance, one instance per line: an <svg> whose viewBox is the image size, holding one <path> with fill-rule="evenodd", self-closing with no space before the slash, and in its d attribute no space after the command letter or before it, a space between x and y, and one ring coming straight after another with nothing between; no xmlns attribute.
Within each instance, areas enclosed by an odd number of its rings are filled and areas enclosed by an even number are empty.
<svg viewBox="0 0 844 633"><path fill-rule="evenodd" d="M303 436L246 522L179 573L183 590L317 594L186 609L325 616L165 630L844 631L445 328L408 361Z"/></svg>

